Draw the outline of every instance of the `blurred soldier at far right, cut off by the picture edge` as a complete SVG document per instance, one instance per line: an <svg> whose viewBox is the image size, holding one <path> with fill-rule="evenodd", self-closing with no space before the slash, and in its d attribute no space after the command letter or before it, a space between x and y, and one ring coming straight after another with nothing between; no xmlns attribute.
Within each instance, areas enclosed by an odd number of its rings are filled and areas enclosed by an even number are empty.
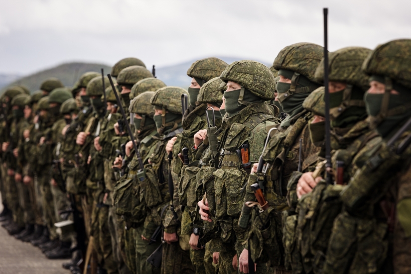
<svg viewBox="0 0 411 274"><path fill-rule="evenodd" d="M341 192L323 273L409 273L410 39L379 45L362 69L370 127L383 142ZM405 127L403 127L406 125Z"/></svg>

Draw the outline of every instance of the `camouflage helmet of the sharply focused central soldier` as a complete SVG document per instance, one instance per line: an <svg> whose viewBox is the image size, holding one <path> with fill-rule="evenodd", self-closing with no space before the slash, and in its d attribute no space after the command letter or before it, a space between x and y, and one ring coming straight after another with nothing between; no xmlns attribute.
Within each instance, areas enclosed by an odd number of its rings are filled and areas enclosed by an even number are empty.
<svg viewBox="0 0 411 274"><path fill-rule="evenodd" d="M231 63L222 73L221 80L233 81L254 95L270 100L274 97L275 82L271 70L262 63L242 60ZM240 94L239 103L242 97Z"/></svg>

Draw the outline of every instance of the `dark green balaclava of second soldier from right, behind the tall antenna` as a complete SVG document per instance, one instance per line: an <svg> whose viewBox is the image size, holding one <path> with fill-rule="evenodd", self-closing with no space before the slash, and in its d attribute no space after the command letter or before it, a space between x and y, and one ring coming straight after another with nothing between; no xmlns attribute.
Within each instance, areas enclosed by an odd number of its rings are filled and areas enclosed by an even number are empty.
<svg viewBox="0 0 411 274"><path fill-rule="evenodd" d="M363 102L364 90L357 86L347 85L345 89L329 94L330 110L341 106L344 100L344 93L347 92L351 96L351 102ZM342 113L338 114L338 109L336 109L334 112L335 114L333 113L333 115L330 115L331 127L349 128L354 126L357 122L364 120L367 117L367 111L362 105L363 104L361 104L361 106L349 106Z"/></svg>

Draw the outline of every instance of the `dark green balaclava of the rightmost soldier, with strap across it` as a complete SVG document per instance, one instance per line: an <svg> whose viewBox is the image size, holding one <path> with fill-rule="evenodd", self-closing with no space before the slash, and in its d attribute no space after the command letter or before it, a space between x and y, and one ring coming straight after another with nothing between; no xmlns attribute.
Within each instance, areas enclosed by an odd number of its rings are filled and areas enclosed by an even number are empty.
<svg viewBox="0 0 411 274"><path fill-rule="evenodd" d="M378 81L386 85L385 93L366 93L364 96L365 106L370 119L370 127L377 129L383 138L391 136L395 133L394 129L398 128L401 122L411 116L411 89L394 81L386 83L384 77L377 75L371 76L370 81ZM391 94L392 89L400 94ZM382 104L383 101L386 102L387 100L389 102L388 108L386 114L383 115Z"/></svg>

